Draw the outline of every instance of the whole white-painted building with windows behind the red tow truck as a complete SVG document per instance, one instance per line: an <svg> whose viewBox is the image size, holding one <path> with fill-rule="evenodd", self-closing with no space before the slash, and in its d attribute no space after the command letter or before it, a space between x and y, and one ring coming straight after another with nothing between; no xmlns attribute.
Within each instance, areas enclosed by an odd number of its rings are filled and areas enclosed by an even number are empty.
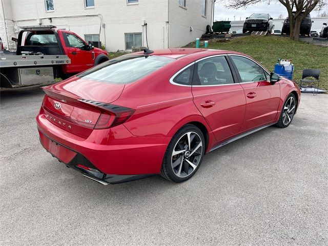
<svg viewBox="0 0 328 246"><path fill-rule="evenodd" d="M108 51L181 47L211 25L213 0L0 0L0 37L9 50L19 27L53 25ZM9 43L9 45L8 45ZM148 45L147 45L148 43Z"/></svg>

